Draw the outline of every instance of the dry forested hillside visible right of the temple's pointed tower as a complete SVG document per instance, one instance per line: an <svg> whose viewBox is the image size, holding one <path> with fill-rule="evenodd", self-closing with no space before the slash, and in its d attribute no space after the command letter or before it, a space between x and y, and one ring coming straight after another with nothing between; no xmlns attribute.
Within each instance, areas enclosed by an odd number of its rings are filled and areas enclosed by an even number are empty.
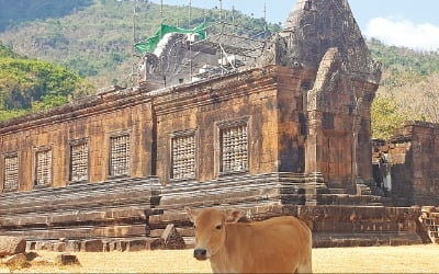
<svg viewBox="0 0 439 274"><path fill-rule="evenodd" d="M405 121L439 123L439 53L369 41L383 79L372 105L373 137L387 139Z"/></svg>

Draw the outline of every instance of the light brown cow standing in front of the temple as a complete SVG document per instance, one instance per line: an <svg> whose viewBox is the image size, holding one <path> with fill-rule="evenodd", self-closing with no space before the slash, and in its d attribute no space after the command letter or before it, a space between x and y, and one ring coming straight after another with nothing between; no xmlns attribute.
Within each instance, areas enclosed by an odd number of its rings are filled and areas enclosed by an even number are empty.
<svg viewBox="0 0 439 274"><path fill-rule="evenodd" d="M311 273L309 228L294 217L238 222L239 210L185 208L195 227L193 256L214 273Z"/></svg>

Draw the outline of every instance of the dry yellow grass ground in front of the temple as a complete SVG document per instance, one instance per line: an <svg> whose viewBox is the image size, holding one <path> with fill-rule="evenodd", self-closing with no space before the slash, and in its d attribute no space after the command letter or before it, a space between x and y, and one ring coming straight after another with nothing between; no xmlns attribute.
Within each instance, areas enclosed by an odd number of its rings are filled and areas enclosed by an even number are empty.
<svg viewBox="0 0 439 274"><path fill-rule="evenodd" d="M38 252L55 259L58 253ZM75 253L81 266L32 265L15 272L50 273L211 273L192 250ZM438 273L439 246L334 248L313 250L315 273ZM0 273L8 273L0 265Z"/></svg>

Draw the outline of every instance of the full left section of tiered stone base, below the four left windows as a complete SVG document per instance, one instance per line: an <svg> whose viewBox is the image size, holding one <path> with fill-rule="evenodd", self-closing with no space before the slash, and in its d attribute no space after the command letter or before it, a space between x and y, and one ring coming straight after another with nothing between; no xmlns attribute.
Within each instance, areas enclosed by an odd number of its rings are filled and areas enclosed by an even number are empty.
<svg viewBox="0 0 439 274"><path fill-rule="evenodd" d="M158 179L119 179L0 194L0 233L27 240L146 236Z"/></svg>

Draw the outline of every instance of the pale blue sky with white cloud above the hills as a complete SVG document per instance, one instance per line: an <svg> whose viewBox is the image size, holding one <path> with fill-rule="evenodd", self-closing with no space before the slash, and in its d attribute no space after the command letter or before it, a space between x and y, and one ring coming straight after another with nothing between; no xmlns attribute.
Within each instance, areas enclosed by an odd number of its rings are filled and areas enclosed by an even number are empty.
<svg viewBox="0 0 439 274"><path fill-rule="evenodd" d="M160 2L160 0L153 0ZM162 0L164 4L218 7L218 0ZM323 1L323 0L317 0ZM363 34L390 45L421 50L439 49L439 0L348 0ZM255 18L283 23L296 0L223 0L224 9L240 10Z"/></svg>

